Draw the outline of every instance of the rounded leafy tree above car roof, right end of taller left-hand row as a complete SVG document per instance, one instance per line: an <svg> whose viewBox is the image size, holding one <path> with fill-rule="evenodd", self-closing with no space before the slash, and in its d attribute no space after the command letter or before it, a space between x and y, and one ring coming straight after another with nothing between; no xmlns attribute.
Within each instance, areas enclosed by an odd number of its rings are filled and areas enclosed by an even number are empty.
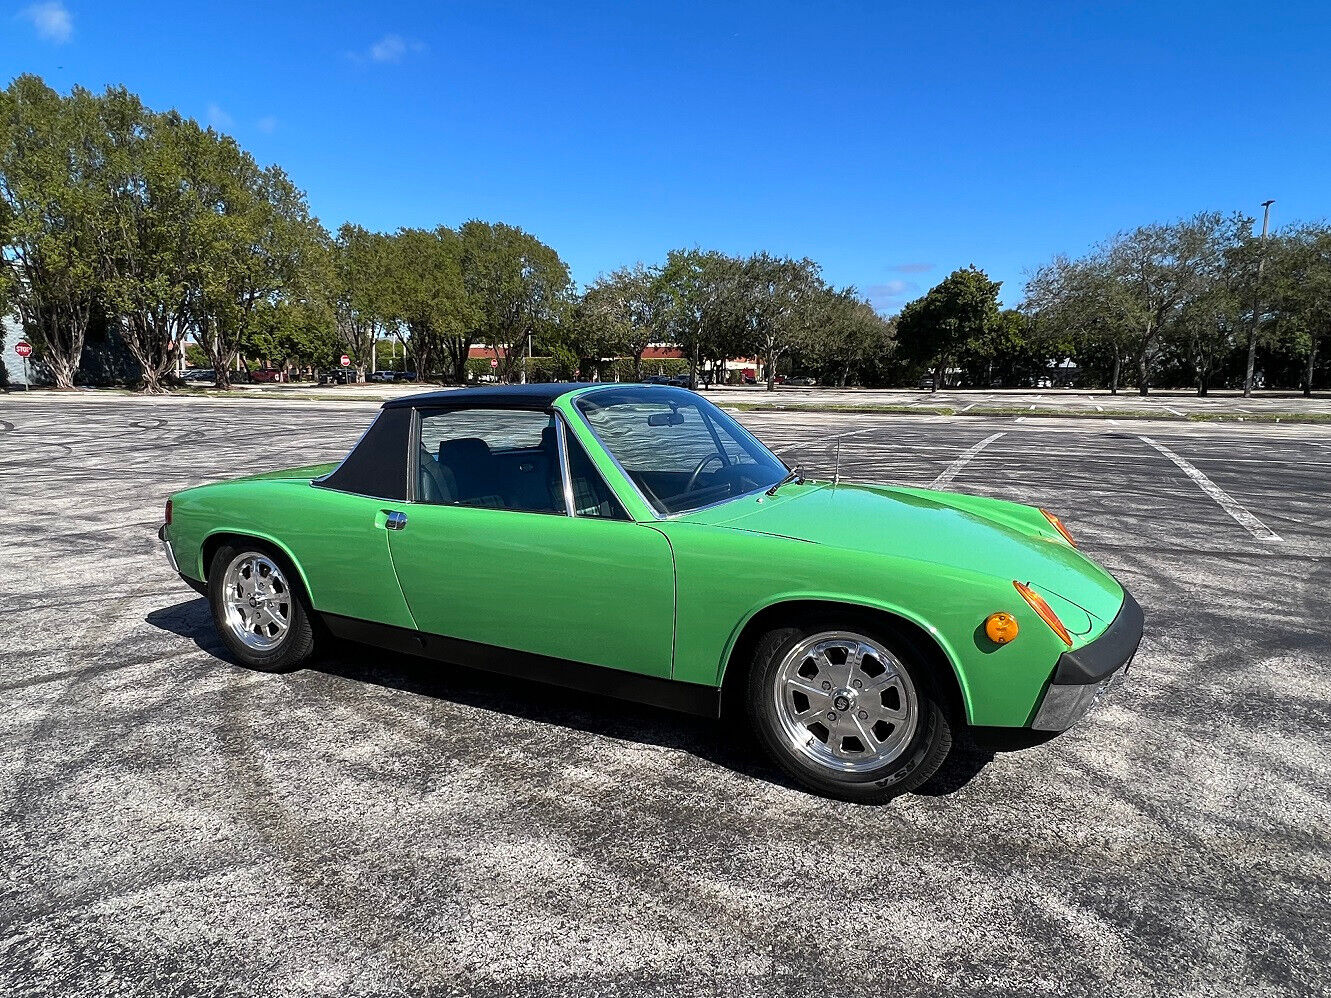
<svg viewBox="0 0 1331 998"><path fill-rule="evenodd" d="M503 222L473 220L463 224L459 236L471 322L470 335L458 337L450 353L461 374L471 342L479 339L495 349L499 377L512 381L528 337L548 331L563 314L571 283L568 266L535 236Z"/></svg>

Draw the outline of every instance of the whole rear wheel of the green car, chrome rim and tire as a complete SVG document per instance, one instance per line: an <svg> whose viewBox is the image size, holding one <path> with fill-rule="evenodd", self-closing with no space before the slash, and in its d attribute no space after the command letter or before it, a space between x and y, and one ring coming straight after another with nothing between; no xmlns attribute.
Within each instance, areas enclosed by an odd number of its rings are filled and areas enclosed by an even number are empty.
<svg viewBox="0 0 1331 998"><path fill-rule="evenodd" d="M285 559L266 544L224 544L208 571L213 624L241 663L265 672L302 665L314 653L310 608Z"/></svg>

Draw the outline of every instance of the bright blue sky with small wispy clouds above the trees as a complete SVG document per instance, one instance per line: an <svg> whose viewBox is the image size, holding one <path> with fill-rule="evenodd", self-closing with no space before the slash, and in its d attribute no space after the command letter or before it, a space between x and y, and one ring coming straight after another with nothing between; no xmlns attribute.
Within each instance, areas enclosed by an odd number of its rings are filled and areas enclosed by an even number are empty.
<svg viewBox="0 0 1331 998"><path fill-rule="evenodd" d="M699 245L1016 303L1142 222L1331 214L1324 3L19 0L21 72L217 125L330 228L512 222L580 282Z"/></svg>

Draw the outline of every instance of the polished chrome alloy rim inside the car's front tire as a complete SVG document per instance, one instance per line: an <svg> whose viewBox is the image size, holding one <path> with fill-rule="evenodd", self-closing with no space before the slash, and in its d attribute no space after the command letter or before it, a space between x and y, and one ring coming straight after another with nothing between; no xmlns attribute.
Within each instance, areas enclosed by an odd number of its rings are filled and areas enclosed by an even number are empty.
<svg viewBox="0 0 1331 998"><path fill-rule="evenodd" d="M791 748L819 765L868 773L910 744L920 703L910 673L872 637L823 631L781 660L776 715Z"/></svg>

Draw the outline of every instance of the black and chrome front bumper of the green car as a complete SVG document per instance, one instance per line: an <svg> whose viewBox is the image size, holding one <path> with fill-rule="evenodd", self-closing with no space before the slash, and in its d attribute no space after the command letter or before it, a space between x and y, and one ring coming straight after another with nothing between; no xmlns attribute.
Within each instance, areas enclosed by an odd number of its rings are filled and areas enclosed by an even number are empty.
<svg viewBox="0 0 1331 998"><path fill-rule="evenodd" d="M1141 605L1123 589L1123 605L1105 633L1058 657L1030 727L1036 731L1067 731L1090 713L1101 697L1127 675L1142 643L1145 623Z"/></svg>

